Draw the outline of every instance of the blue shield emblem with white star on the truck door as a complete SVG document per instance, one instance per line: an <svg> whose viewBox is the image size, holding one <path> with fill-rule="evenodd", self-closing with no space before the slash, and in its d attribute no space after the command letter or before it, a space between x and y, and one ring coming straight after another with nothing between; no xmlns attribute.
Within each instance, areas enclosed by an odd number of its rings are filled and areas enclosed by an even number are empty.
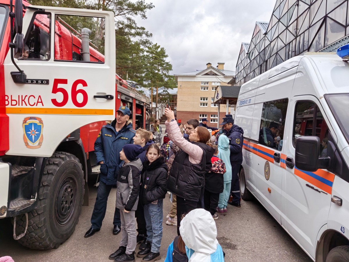
<svg viewBox="0 0 349 262"><path fill-rule="evenodd" d="M41 118L29 116L23 119L23 141L26 147L35 149L43 143L44 124Z"/></svg>

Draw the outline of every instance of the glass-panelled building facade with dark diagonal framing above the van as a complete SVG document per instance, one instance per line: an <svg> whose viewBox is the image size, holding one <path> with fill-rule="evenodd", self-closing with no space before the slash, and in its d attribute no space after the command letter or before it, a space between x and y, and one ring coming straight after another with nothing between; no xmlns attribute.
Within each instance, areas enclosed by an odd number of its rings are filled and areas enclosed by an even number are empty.
<svg viewBox="0 0 349 262"><path fill-rule="evenodd" d="M269 23L256 22L251 43L241 45L235 85L348 35L348 0L277 0Z"/></svg>

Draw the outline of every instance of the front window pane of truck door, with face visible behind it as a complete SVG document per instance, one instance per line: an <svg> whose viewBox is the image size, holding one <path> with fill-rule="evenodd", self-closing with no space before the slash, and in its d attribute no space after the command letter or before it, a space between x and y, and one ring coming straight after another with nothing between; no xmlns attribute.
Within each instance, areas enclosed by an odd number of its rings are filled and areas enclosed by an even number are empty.
<svg viewBox="0 0 349 262"><path fill-rule="evenodd" d="M31 26L24 38L21 59L50 60L51 14L35 13Z"/></svg>

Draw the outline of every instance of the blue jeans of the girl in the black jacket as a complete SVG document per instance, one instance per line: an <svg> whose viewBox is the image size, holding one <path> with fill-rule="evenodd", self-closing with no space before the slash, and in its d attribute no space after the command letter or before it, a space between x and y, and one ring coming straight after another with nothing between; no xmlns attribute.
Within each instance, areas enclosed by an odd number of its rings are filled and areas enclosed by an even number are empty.
<svg viewBox="0 0 349 262"><path fill-rule="evenodd" d="M146 219L147 240L151 243L151 252L160 252L162 239L163 199L158 199L157 204L144 205L144 218Z"/></svg>

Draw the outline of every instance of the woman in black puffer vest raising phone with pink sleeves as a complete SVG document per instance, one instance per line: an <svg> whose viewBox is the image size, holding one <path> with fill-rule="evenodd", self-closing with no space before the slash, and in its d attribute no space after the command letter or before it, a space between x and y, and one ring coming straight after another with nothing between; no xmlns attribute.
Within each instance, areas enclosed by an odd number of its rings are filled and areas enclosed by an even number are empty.
<svg viewBox="0 0 349 262"><path fill-rule="evenodd" d="M173 160L167 183L167 189L177 196L177 233L180 235L181 216L198 207L205 173L212 166L214 149L207 145L211 134L206 128L195 128L189 135L189 142L183 138L173 111L166 108L165 115L168 137L181 149Z"/></svg>

